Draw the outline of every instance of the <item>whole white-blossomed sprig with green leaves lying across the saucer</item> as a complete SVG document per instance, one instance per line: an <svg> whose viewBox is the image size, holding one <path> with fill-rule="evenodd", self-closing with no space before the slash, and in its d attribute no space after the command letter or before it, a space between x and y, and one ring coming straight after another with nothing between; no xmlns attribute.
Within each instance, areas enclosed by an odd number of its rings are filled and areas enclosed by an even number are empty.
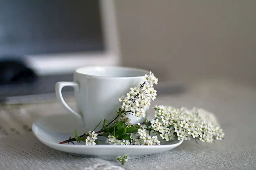
<svg viewBox="0 0 256 170"><path fill-rule="evenodd" d="M122 102L118 110L117 117L107 124L107 119L103 121L103 128L100 131L89 131L81 136L69 138L61 142L84 143L86 145L98 144L97 135L107 137L106 143L110 145L160 145L160 138L163 140L201 140L211 143L214 140L222 140L223 130L216 123L217 119L213 114L203 109L193 108L192 110L184 107L175 109L168 106L155 106L155 119L143 121L142 124L132 124L127 113L133 114L140 119L146 117L146 109L151 101L156 99L156 90L153 84L157 84L158 79L152 72L145 75L146 81L138 87L130 88L126 96L119 98ZM95 129L101 124L96 125ZM154 135L150 135L154 134ZM158 139L159 138L159 139ZM74 144L74 143L73 143ZM127 156L117 157L122 164L127 162Z"/></svg>

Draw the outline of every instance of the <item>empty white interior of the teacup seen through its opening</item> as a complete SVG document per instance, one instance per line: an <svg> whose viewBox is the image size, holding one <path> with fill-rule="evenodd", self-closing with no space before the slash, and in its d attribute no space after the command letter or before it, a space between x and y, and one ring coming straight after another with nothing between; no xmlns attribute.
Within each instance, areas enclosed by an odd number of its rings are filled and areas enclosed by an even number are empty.
<svg viewBox="0 0 256 170"><path fill-rule="evenodd" d="M128 67L83 67L74 72L99 77L138 77L149 74L147 70Z"/></svg>

